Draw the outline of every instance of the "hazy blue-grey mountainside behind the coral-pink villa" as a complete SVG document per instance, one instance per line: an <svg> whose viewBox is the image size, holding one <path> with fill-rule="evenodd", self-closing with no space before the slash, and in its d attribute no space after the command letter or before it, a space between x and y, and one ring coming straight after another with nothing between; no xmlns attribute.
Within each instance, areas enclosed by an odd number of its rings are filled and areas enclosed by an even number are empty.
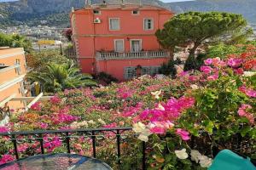
<svg viewBox="0 0 256 170"><path fill-rule="evenodd" d="M35 26L69 26L68 14L72 7L83 8L85 0L20 0L0 3L0 26L25 24ZM107 0L119 3L120 0ZM91 3L102 3L92 0ZM139 3L139 0L125 0L125 3ZM227 11L243 14L249 22L256 23L256 0L196 0L195 2L162 3L159 0L143 0L143 3L171 8L177 13L193 11ZM45 22L46 20L46 22ZM43 22L44 21L44 22Z"/></svg>

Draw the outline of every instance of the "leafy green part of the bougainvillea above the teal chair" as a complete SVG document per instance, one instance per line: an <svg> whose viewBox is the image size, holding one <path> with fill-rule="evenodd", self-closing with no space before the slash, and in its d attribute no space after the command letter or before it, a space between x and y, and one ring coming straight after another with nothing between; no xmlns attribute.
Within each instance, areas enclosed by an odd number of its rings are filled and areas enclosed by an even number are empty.
<svg viewBox="0 0 256 170"><path fill-rule="evenodd" d="M251 84L253 79L247 77L247 84L253 85ZM219 77L216 82L207 82L204 88L197 89L193 93L196 99L195 108L183 114L180 119L184 128L201 138L201 141L196 138L198 147L205 148L208 154L212 154L212 150L207 148L216 146L218 149L227 148L242 155L253 155L253 148L236 150L234 147L238 144L237 138L241 137L241 144L253 145L255 142L255 127L250 126L247 118L237 113L241 104L250 102L253 108L256 106L253 102L255 99L249 99L247 95L237 90L241 84L241 79L232 73L230 77ZM199 126L195 127L196 124Z"/></svg>

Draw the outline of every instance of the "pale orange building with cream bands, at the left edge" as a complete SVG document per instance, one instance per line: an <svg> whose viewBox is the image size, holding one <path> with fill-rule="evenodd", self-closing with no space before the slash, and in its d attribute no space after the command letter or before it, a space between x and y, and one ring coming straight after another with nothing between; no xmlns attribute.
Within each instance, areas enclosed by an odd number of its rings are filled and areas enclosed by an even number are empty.
<svg viewBox="0 0 256 170"><path fill-rule="evenodd" d="M12 100L24 97L26 59L23 48L0 48L0 107L10 109L26 107L26 101Z"/></svg>

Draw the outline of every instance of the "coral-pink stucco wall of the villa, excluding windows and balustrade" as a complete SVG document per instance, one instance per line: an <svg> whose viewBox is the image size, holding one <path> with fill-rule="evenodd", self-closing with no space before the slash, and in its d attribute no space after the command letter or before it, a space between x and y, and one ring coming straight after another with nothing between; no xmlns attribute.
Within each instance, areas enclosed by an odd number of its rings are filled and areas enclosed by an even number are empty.
<svg viewBox="0 0 256 170"><path fill-rule="evenodd" d="M101 14L93 14L93 9L101 11ZM132 10L138 9L139 14L131 14ZM97 61L96 51L113 51L114 40L123 39L125 52L131 51L131 40L142 40L143 50L159 50L160 45L154 32L162 28L173 13L165 8L144 5L125 5L125 7L107 5L107 7L91 6L73 11L71 14L71 26L73 27L73 40L76 42L78 58L81 70L95 74L96 71L105 71L114 77L123 79L123 67L129 65L161 65L166 58L157 59L112 59L108 61ZM93 23L99 18L100 24ZM109 30L109 18L119 18L119 31ZM145 31L143 29L144 19L154 20L154 29ZM106 64L107 63L107 67ZM113 69L115 68L115 69ZM119 71L115 73L114 71Z"/></svg>

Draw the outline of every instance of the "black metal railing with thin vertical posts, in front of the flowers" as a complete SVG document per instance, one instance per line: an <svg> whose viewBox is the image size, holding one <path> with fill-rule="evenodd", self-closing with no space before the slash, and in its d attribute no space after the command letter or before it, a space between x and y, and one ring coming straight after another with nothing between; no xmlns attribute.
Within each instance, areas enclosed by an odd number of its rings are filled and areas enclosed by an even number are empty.
<svg viewBox="0 0 256 170"><path fill-rule="evenodd" d="M122 141L122 137L132 135L137 136L137 133L132 132L132 127L113 127L113 128L90 128L90 129L77 129L77 130L40 130L40 131L26 131L26 132L8 132L8 133L0 133L1 137L7 137L5 140L9 140L14 147L14 154L16 159L20 158L19 150L18 150L18 143L22 138L20 137L28 137L33 136L33 139L35 141L39 142L40 145L40 152L41 154L44 154L44 136L47 134L54 134L58 137L61 137L61 141L66 144L67 146L67 153L71 153L71 143L70 140L73 138L78 137L87 137L91 139L91 147L92 147L92 156L96 158L96 138L102 137L104 138L104 135L106 133L111 133L112 139L116 139L116 154L118 159L118 164L121 164L121 148L120 144ZM10 144L11 144L10 143ZM142 169L146 169L146 143L142 142Z"/></svg>

